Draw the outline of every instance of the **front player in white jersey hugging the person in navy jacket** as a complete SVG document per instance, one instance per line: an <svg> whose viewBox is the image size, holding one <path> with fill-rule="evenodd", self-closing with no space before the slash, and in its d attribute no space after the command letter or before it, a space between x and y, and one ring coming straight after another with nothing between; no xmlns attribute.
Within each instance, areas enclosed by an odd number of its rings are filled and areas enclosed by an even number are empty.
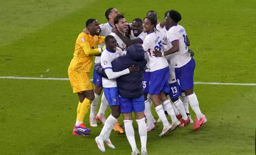
<svg viewBox="0 0 256 155"><path fill-rule="evenodd" d="M120 116L120 101L116 85L116 78L125 74L129 74L130 72L138 72L139 70L138 67L130 66L129 68L120 72L113 72L111 62L115 58L123 55L123 52L122 49L116 47L118 43L113 36L108 35L105 38L105 43L106 49L101 54L101 66L104 68L108 78L103 77L102 84L105 96L109 102L109 106L111 107L111 115L105 121L100 135L95 138L98 148L102 152L105 152L104 142L112 149L115 148L109 139L109 135L111 130L114 128L118 117Z"/></svg>

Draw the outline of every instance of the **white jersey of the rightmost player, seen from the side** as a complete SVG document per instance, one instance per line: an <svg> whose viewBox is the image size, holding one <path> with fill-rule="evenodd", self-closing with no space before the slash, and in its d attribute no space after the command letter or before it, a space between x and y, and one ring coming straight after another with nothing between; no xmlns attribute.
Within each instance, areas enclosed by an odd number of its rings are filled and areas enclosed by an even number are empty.
<svg viewBox="0 0 256 155"><path fill-rule="evenodd" d="M170 49L175 41L179 42L179 51L173 53L173 59L171 65L175 68L179 68L187 64L190 60L190 54L188 53L188 46L186 43L186 31L181 25L172 26L167 32L167 46Z"/></svg>

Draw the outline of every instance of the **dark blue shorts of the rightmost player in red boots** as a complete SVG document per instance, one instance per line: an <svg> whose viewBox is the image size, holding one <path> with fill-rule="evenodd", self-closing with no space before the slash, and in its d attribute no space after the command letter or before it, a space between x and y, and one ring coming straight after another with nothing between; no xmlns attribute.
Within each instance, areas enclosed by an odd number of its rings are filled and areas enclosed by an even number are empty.
<svg viewBox="0 0 256 155"><path fill-rule="evenodd" d="M182 67L175 68L175 76L180 84L181 90L188 90L194 87L194 70L196 62L193 58Z"/></svg>

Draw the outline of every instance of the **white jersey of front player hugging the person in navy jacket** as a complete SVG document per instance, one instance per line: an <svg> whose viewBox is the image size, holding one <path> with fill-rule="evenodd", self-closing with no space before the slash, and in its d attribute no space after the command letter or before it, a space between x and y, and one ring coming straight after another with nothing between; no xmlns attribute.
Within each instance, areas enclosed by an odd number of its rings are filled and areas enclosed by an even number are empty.
<svg viewBox="0 0 256 155"><path fill-rule="evenodd" d="M122 49L116 47L116 52L109 51L107 48L101 53L101 66L105 69L112 69L111 62L116 59L117 57L123 55ZM102 86L104 88L112 88L117 87L116 79L108 79L102 77Z"/></svg>

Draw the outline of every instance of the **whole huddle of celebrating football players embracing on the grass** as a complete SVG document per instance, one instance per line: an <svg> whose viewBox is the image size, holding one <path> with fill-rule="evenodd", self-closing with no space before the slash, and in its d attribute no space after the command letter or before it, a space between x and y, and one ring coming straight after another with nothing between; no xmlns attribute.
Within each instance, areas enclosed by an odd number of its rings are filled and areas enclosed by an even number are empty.
<svg viewBox="0 0 256 155"><path fill-rule="evenodd" d="M90 105L91 127L97 127L96 120L104 124L95 138L102 152L105 152L104 143L115 148L109 138L112 129L124 133L117 121L120 113L124 117L123 128L132 147L132 155L140 154L134 137L132 112L138 123L142 155L147 155L147 132L154 130L157 122L163 123L160 137L188 123L194 123L194 130L205 124L207 119L201 113L193 91L194 52L188 49L190 41L185 29L178 25L180 13L167 11L162 23L157 21L157 13L153 10L147 12L143 20L136 18L132 23L127 23L124 15L115 8L107 9L105 16L108 23L101 25L96 19L87 20L86 29L78 36L68 70L73 92L80 98L73 134L89 135L91 130L85 127L83 118ZM99 44L97 49L96 44ZM93 55L96 56L94 91L88 83ZM81 71L78 66L86 66L87 69ZM102 90L101 105L96 115ZM159 116L157 121L151 113L152 103ZM188 103L196 114L195 122L190 116ZM111 115L106 119L108 105ZM168 115L172 123L167 120Z"/></svg>

